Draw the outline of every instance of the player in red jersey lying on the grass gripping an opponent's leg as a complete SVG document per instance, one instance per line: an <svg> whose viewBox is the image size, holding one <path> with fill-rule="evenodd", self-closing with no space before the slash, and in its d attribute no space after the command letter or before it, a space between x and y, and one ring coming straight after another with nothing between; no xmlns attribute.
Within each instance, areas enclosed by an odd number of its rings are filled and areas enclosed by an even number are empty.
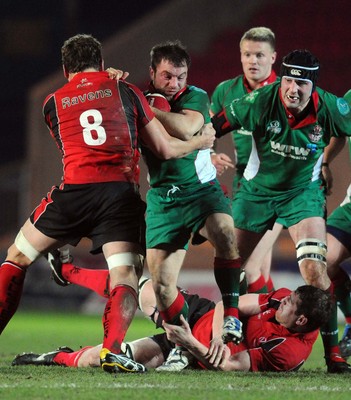
<svg viewBox="0 0 351 400"><path fill-rule="evenodd" d="M61 279L74 273L75 283L89 284L94 270L63 264ZM57 271L56 271L57 272ZM91 281L95 290L104 295L107 274L96 270ZM103 276L105 274L105 277ZM89 277L87 278L87 276ZM139 306L157 327L162 322L156 310L156 299L150 280L140 284ZM161 365L173 343L186 347L193 356L193 367L224 371L296 371L306 361L318 337L319 327L327 321L331 309L330 295L309 285L295 291L279 289L269 294L240 296L239 311L244 321L244 341L240 345L223 344L221 329L223 309L208 299L184 293L189 302L189 319L181 326L163 323L166 333L142 338L123 345L124 351L147 368ZM98 367L102 346L84 347L73 351L62 347L44 354L24 353L12 365L63 365ZM121 371L115 368L115 372Z"/></svg>

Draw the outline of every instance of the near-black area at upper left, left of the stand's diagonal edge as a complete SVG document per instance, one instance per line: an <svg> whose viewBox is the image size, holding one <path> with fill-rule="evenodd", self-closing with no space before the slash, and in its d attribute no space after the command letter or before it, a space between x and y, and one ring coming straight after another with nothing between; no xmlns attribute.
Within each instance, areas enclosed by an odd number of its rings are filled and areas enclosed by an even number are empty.
<svg viewBox="0 0 351 400"><path fill-rule="evenodd" d="M88 33L103 41L165 0L0 1L0 166L26 151L29 87L57 71L63 41Z"/></svg>

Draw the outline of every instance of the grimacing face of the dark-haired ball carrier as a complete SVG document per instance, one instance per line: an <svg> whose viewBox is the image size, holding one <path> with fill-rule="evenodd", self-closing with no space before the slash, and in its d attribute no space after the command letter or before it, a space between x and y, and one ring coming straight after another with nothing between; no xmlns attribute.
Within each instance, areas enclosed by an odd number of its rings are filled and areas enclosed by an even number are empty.
<svg viewBox="0 0 351 400"><path fill-rule="evenodd" d="M155 89L163 94L167 100L183 89L188 77L188 67L186 64L182 67L175 67L167 60L162 60L157 65L156 71L150 68L151 80Z"/></svg>

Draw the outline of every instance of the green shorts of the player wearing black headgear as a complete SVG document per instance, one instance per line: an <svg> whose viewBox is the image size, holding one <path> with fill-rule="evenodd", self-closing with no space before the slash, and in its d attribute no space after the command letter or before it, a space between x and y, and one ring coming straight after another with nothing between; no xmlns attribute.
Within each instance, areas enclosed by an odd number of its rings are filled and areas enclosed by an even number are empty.
<svg viewBox="0 0 351 400"><path fill-rule="evenodd" d="M289 228L305 218L326 218L325 189L321 181L303 189L268 194L242 179L232 206L235 227L256 233L272 229L276 221Z"/></svg>

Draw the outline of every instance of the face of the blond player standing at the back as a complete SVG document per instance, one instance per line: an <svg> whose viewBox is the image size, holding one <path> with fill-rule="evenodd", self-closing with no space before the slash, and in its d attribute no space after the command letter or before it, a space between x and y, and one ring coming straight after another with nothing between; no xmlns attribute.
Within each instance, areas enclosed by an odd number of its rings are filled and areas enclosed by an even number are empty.
<svg viewBox="0 0 351 400"><path fill-rule="evenodd" d="M241 64L246 79L256 89L272 72L277 53L267 42L243 40L240 45Z"/></svg>

